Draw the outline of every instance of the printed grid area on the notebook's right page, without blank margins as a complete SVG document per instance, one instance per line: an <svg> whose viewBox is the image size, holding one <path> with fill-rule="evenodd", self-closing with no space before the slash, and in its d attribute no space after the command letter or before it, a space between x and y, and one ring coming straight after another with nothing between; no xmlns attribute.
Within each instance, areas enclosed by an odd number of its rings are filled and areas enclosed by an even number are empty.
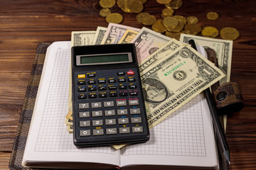
<svg viewBox="0 0 256 170"><path fill-rule="evenodd" d="M206 157L202 96L198 95L150 130L150 140L127 146L124 155L154 154Z"/></svg>

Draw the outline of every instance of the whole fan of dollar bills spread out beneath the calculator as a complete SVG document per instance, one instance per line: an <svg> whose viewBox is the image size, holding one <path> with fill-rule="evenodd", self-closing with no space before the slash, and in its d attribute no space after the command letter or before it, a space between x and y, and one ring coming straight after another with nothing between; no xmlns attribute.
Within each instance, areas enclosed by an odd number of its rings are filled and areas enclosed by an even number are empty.
<svg viewBox="0 0 256 170"><path fill-rule="evenodd" d="M215 50L220 69L188 45L190 39L195 40L196 45ZM73 31L71 35L72 46L118 43L136 46L149 128L215 82L223 84L230 79L233 48L230 40L182 34L178 41L149 28L116 23L97 30ZM65 118L68 132L73 132L71 93L70 81L69 110Z"/></svg>

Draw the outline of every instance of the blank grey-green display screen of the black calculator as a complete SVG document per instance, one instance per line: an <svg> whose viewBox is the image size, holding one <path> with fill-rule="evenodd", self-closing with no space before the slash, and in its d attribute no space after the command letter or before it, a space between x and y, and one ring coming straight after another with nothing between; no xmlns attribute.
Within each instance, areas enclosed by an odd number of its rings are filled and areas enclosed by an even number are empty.
<svg viewBox="0 0 256 170"><path fill-rule="evenodd" d="M80 64L129 62L128 54L81 56Z"/></svg>

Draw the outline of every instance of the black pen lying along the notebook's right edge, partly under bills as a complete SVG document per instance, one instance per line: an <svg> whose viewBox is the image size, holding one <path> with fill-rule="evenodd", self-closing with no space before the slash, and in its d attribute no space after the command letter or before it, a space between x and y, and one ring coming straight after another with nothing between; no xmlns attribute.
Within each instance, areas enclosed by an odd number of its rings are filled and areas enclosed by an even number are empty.
<svg viewBox="0 0 256 170"><path fill-rule="evenodd" d="M197 50L194 40L189 40L188 43L191 45L191 47L193 47L193 49ZM220 119L218 118L218 112L213 101L213 96L210 93L210 88L206 89L204 93L206 95L206 100L210 109L210 114L213 119L213 127L220 142L220 147L223 149L223 155L225 159L227 159L228 163L230 164L230 151L228 149L228 143L227 140L225 139L223 128L220 124Z"/></svg>

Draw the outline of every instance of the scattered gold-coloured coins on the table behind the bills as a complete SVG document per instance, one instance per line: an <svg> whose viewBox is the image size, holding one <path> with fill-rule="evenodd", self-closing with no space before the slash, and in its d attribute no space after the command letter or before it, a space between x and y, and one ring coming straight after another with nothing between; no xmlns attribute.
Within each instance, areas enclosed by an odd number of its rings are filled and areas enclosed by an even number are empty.
<svg viewBox="0 0 256 170"><path fill-rule="evenodd" d="M182 0L156 0L163 4L165 8L161 11L161 18L157 19L150 13L142 12L146 0L100 0L100 16L106 17L107 23L122 23L123 16L120 13L111 13L110 8L115 4L126 13L137 13L136 19L145 26L151 26L152 30L158 33L164 33L170 38L179 40L181 33L198 35L201 33L204 37L215 38L220 35L225 40L235 40L239 37L239 32L235 28L225 27L220 30L213 26L201 28L196 16L175 16L174 10L181 8ZM206 14L209 20L217 20L218 13L209 12Z"/></svg>

